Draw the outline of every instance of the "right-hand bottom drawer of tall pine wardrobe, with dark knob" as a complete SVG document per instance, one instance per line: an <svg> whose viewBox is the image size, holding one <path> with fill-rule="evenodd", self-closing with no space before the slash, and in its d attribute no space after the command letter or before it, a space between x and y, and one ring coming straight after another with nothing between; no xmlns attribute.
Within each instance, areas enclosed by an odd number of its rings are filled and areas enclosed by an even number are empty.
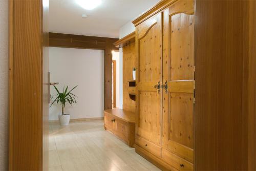
<svg viewBox="0 0 256 171"><path fill-rule="evenodd" d="M194 165L175 154L163 149L163 160L179 170L193 170Z"/></svg>

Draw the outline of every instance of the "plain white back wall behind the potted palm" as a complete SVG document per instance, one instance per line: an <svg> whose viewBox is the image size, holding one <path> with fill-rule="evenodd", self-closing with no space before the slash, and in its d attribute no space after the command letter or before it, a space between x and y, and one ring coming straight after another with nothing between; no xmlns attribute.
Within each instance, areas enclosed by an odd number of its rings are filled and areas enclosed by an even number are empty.
<svg viewBox="0 0 256 171"><path fill-rule="evenodd" d="M59 82L74 90L77 104L66 104L66 113L71 119L103 117L104 109L104 51L90 49L53 48L49 49L49 71L51 82ZM51 95L56 91L51 86ZM61 105L51 106L49 120L58 120Z"/></svg>

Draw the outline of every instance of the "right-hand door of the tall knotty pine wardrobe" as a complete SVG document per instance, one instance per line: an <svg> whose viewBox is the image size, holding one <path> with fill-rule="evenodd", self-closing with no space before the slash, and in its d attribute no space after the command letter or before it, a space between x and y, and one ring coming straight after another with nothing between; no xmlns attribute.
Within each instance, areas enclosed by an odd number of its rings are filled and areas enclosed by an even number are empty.
<svg viewBox="0 0 256 171"><path fill-rule="evenodd" d="M163 150L193 163L194 1L177 1L163 17Z"/></svg>

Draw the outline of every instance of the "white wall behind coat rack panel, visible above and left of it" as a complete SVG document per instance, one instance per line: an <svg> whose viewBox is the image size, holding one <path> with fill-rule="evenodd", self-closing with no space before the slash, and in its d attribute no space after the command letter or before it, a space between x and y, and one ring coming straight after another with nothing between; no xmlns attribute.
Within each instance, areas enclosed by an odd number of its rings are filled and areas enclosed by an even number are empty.
<svg viewBox="0 0 256 171"><path fill-rule="evenodd" d="M126 35L135 31L135 27L132 22L128 22L119 29L119 38L123 38ZM123 109L123 49L119 48L119 108Z"/></svg>

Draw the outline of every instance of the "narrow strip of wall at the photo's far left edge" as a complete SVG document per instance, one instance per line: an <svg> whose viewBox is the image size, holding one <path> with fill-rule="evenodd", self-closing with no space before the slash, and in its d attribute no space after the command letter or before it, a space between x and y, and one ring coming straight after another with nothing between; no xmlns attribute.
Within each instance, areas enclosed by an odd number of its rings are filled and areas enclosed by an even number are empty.
<svg viewBox="0 0 256 171"><path fill-rule="evenodd" d="M0 170L8 169L8 0L0 1Z"/></svg>

